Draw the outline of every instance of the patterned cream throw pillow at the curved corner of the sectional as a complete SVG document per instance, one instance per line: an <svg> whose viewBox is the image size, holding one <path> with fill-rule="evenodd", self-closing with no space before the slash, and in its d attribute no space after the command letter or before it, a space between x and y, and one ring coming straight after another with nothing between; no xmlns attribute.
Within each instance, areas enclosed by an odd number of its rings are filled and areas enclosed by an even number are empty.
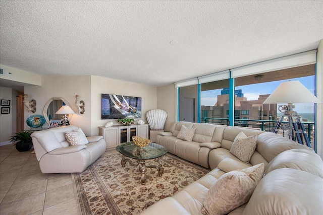
<svg viewBox="0 0 323 215"><path fill-rule="evenodd" d="M236 136L230 153L245 163L249 163L257 146L257 136L246 136L242 131Z"/></svg>

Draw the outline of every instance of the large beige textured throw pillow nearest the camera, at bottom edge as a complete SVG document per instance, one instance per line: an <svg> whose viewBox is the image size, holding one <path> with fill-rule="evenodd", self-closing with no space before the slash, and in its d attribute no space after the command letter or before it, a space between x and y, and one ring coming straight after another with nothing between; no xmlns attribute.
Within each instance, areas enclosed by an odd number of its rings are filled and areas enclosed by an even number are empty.
<svg viewBox="0 0 323 215"><path fill-rule="evenodd" d="M203 200L203 214L227 214L249 201L263 177L264 164L222 175L208 190Z"/></svg>

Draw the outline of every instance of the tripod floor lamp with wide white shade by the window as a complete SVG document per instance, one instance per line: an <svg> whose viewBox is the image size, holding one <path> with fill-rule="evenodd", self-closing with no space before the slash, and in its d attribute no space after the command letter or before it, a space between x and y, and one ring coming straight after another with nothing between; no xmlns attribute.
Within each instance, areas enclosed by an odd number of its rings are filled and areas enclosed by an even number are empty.
<svg viewBox="0 0 323 215"><path fill-rule="evenodd" d="M274 132L278 130L284 120L288 117L288 136L299 144L310 147L310 141L306 133L302 117L293 111L293 103L321 103L304 85L299 81L281 83L278 88L263 102L263 104L281 104L278 110L283 113L280 117ZM295 138L296 137L296 138Z"/></svg>

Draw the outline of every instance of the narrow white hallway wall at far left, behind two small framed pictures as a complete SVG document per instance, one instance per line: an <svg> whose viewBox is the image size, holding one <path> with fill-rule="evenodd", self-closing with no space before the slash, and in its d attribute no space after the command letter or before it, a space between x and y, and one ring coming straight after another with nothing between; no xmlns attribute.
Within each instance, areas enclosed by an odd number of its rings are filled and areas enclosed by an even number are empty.
<svg viewBox="0 0 323 215"><path fill-rule="evenodd" d="M13 90L7 87L0 87L0 99L10 100L9 114L0 114L0 146L9 144L10 136L13 135L12 131L12 117L13 117ZM15 100L16 102L16 100Z"/></svg>

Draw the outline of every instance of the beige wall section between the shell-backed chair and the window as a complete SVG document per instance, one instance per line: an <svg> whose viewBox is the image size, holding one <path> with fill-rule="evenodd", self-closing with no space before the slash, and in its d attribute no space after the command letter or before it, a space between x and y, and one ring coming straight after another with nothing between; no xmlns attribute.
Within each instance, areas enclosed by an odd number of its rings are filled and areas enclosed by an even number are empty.
<svg viewBox="0 0 323 215"><path fill-rule="evenodd" d="M170 130L172 122L177 121L177 90L174 84L157 88L157 109L167 112L164 130Z"/></svg>

